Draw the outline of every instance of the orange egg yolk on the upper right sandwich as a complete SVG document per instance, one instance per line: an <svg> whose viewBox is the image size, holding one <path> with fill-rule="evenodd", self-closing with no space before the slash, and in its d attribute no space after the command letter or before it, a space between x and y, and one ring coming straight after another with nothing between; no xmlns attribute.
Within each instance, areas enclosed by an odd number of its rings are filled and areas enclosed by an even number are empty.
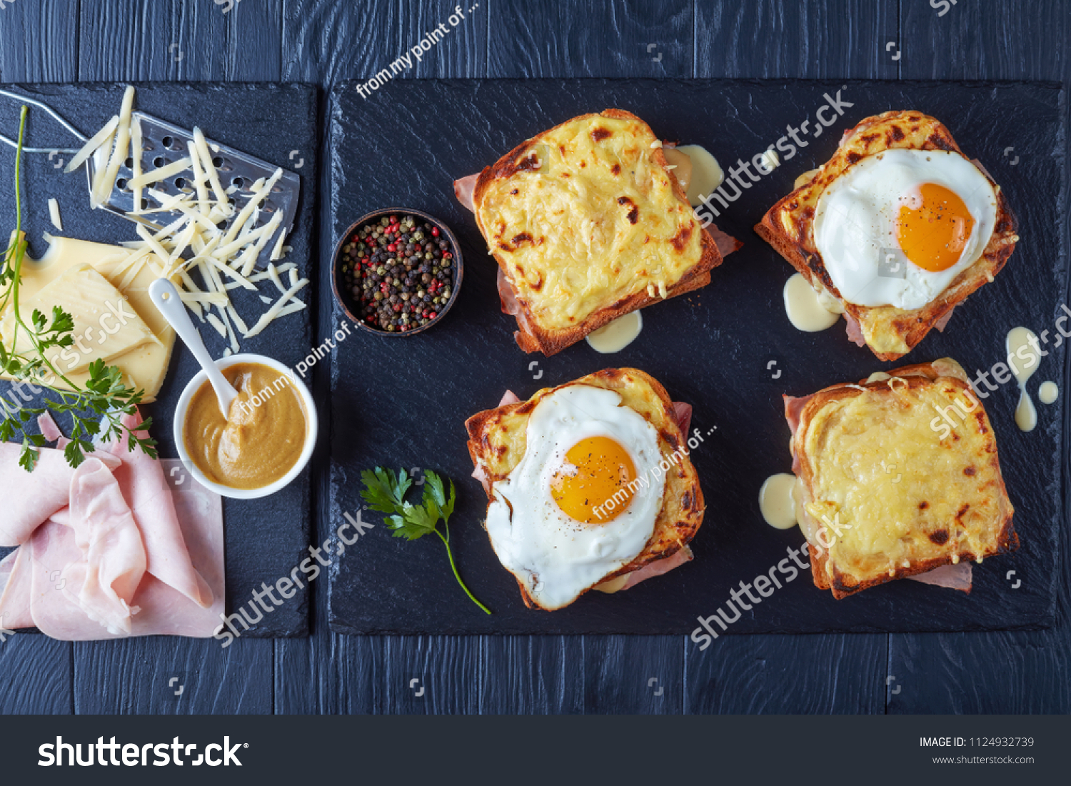
<svg viewBox="0 0 1071 786"><path fill-rule="evenodd" d="M900 208L896 241L911 262L938 273L963 255L975 220L955 192L944 185L923 183L921 198L910 198Z"/></svg>

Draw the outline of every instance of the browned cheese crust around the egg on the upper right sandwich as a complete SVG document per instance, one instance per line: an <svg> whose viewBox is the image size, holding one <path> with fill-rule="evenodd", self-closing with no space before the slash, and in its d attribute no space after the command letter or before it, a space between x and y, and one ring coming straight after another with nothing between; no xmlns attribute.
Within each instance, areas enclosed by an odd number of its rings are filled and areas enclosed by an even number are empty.
<svg viewBox="0 0 1071 786"><path fill-rule="evenodd" d="M821 255L814 243L814 214L818 198L845 169L884 150L945 150L960 153L960 147L941 123L919 111L889 111L870 117L854 127L836 153L812 180L774 205L755 226L755 231L772 245L816 291L826 291L840 301L859 323L863 338L881 360L896 360L909 352L956 303L983 284L993 281L1019 241L1015 216L999 186L979 170L997 194L997 218L982 256L957 275L933 301L921 308L891 305L861 306L848 303L833 286ZM964 156L966 157L966 156Z"/></svg>

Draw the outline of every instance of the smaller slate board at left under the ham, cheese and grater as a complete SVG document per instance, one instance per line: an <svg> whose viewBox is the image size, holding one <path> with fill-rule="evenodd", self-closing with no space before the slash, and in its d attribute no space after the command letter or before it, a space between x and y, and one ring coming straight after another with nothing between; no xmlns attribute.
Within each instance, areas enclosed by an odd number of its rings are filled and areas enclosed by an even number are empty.
<svg viewBox="0 0 1071 786"><path fill-rule="evenodd" d="M108 118L119 111L125 85L16 85L5 86L51 106L84 134L92 136ZM229 145L271 164L296 171L301 177L301 197L293 230L287 244L293 251L287 260L299 266L302 276L310 276L313 253L313 221L317 195L317 146L319 94L308 85L215 85L215 84L146 84L136 85L135 108L172 122L184 129L200 126L210 139ZM15 100L0 96L0 129L13 139L18 136L18 107ZM44 110L30 107L27 119L26 145L47 148L78 148L78 142ZM290 151L298 150L292 158ZM22 227L30 243L29 253L39 258L47 244L42 232L63 235L101 243L136 240L134 225L104 210L91 210L82 170L64 175L55 164L70 160L60 155L49 160L44 154L27 153L22 157L24 213ZM15 151L0 146L0 193L4 194L0 210L4 225L14 227ZM296 168L297 164L300 168ZM59 200L63 231L58 232L48 217L47 200ZM308 287L307 290L314 287ZM307 300L312 294L305 292ZM248 324L268 306L256 294L233 289L231 298ZM262 290L272 296L275 288ZM237 297L236 297L237 296ZM285 317L260 335L241 339L242 351L259 352L292 366L307 352L313 342L312 308ZM228 344L209 324L200 329L213 357L223 356ZM198 371L196 361L181 342L176 342L170 367L157 399L144 407L152 415L152 436L160 442L164 457L177 457L171 429L175 405L186 382ZM0 383L0 394L6 394L10 383ZM69 422L58 419L66 432ZM304 558L310 531L310 478L306 470L284 490L258 500L224 499L224 533L226 540L227 608L235 611L251 600L251 592L261 581L273 584L280 576ZM0 549L6 553L10 549ZM302 636L308 633L307 591L285 605L265 614L263 620L243 632L243 636Z"/></svg>

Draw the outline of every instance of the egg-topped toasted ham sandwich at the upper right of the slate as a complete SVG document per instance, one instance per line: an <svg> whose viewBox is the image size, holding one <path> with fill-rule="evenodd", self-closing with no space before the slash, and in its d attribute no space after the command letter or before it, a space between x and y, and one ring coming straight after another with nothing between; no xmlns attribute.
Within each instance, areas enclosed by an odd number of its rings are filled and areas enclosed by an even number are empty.
<svg viewBox="0 0 1071 786"><path fill-rule="evenodd" d="M1000 187L919 111L866 118L755 231L881 360L942 330L1019 241Z"/></svg>

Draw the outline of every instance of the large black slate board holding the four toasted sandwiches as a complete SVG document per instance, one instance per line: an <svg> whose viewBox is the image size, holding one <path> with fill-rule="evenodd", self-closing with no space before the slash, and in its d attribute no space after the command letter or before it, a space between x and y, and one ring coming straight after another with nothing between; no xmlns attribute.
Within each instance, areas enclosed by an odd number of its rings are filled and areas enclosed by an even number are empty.
<svg viewBox="0 0 1071 786"><path fill-rule="evenodd" d="M820 135L824 95L850 102ZM360 471L376 464L441 471L457 484L451 543L458 570L494 615L480 611L454 583L437 539L407 543L377 523L330 569L329 619L344 633L402 634L687 634L697 616L715 613L741 581L751 581L799 546L798 529L767 526L758 489L790 471L781 395L803 395L856 381L874 371L950 356L968 371L1005 354L1007 332L1023 324L1050 331L1050 354L1031 379L1060 384L1059 404L1038 403L1029 434L1014 424L1014 384L985 400L1015 505L1022 547L975 566L974 591L901 580L835 601L804 573L729 629L743 633L916 632L1027 629L1054 621L1059 474L1066 396L1065 352L1054 320L1067 302L1060 222L1062 92L1039 82L755 81L755 80L406 80L371 99L340 85L330 103L330 236L389 205L411 206L446 221L465 254L465 282L442 324L411 338L356 335L332 356L329 516L360 504ZM715 269L710 286L644 312L639 338L616 356L586 343L553 358L524 354L514 319L499 311L495 263L476 223L454 199L452 182L479 171L522 140L573 116L619 107L648 121L663 139L698 142L728 167L750 161L804 120L805 147L764 177L718 218L744 247ZM970 157L1001 185L1019 216L1022 240L993 284L961 304L945 333L931 333L899 363L883 363L849 343L844 323L802 333L782 302L794 272L752 230L801 172L824 163L842 131L863 117L915 108L951 130ZM825 117L830 117L826 110ZM1008 150L1006 155L1005 151ZM333 248L321 251L323 274ZM343 314L335 308L334 321ZM590 592L572 606L527 609L499 564L480 522L486 498L469 478L464 421L498 404L503 391L525 398L608 366L652 374L677 400L694 406L693 426L716 427L693 453L707 512L692 543L695 559L628 592ZM334 525L332 525L334 526ZM1014 574L1009 575L1009 571Z"/></svg>

